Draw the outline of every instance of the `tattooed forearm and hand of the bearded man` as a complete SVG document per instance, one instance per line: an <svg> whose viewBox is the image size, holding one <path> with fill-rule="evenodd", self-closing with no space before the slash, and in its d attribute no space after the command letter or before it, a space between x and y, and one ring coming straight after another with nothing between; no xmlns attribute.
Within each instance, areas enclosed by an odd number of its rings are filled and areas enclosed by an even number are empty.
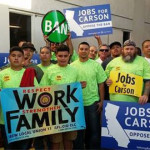
<svg viewBox="0 0 150 150"><path fill-rule="evenodd" d="M139 97L139 104L146 104L148 101L148 96L150 94L150 81L145 82L144 93L141 97Z"/></svg>

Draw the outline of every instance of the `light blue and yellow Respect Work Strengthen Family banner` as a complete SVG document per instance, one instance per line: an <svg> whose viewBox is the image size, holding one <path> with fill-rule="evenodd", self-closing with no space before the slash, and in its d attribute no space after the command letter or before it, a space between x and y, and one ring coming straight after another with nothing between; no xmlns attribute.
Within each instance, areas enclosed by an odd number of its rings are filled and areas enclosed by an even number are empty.
<svg viewBox="0 0 150 150"><path fill-rule="evenodd" d="M85 129L79 82L2 89L1 104L9 143Z"/></svg>

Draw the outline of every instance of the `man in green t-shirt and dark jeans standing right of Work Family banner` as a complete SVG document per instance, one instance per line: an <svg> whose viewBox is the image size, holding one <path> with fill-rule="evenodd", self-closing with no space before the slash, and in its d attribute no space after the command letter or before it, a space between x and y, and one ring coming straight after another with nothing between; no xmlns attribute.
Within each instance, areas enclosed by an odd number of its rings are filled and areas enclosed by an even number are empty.
<svg viewBox="0 0 150 150"><path fill-rule="evenodd" d="M79 59L71 65L78 70L78 81L82 83L83 104L86 120L86 132L79 131L75 141L75 149L84 146L83 135L85 135L86 149L100 148L100 111L104 100L104 82L106 75L99 63L89 59L90 46L82 42L78 46Z"/></svg>

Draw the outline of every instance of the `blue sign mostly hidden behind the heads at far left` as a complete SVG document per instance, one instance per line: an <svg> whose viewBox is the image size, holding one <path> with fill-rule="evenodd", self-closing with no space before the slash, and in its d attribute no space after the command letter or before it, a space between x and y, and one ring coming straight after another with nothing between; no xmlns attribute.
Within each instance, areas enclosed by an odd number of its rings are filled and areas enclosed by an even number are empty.
<svg viewBox="0 0 150 150"><path fill-rule="evenodd" d="M0 53L0 67L5 66L9 63L8 60L9 53ZM31 61L35 64L40 63L39 54L34 54Z"/></svg>

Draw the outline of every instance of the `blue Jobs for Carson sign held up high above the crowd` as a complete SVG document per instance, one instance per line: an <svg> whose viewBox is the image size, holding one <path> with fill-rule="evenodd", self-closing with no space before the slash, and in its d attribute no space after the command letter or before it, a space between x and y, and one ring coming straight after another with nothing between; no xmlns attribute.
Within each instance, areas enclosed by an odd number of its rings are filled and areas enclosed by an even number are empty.
<svg viewBox="0 0 150 150"><path fill-rule="evenodd" d="M64 9L72 38L112 34L110 5Z"/></svg>

